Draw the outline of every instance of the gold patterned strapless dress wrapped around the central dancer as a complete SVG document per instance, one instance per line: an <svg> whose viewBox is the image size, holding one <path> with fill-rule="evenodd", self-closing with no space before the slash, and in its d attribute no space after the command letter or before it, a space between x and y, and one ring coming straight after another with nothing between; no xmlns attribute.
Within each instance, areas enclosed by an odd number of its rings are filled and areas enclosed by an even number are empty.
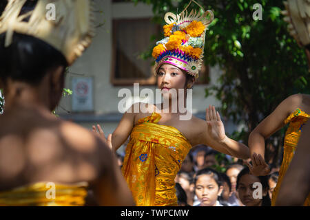
<svg viewBox="0 0 310 220"><path fill-rule="evenodd" d="M136 206L178 206L174 178L192 146L160 119L153 113L138 120L127 144L122 172Z"/></svg>

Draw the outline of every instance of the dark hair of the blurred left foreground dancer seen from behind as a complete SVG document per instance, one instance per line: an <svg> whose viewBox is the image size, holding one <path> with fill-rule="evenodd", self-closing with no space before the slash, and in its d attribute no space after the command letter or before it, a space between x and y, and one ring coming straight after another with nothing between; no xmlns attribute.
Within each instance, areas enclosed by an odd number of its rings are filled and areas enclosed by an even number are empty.
<svg viewBox="0 0 310 220"><path fill-rule="evenodd" d="M4 47L6 33L0 34L0 79L6 84L8 78L30 85L37 85L54 68L68 63L58 50L33 36L14 33L12 43Z"/></svg>

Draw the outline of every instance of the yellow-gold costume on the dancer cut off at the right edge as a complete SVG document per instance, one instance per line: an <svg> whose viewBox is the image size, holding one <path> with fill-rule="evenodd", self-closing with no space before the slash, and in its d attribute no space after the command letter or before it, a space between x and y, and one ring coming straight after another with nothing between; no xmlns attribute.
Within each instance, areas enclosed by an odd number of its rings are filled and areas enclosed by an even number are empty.
<svg viewBox="0 0 310 220"><path fill-rule="evenodd" d="M276 197L280 189L282 179L287 173L287 168L293 159L293 155L296 151L296 146L298 144L299 137L302 133L302 126L309 120L310 115L305 113L300 109L296 109L289 117L285 120L285 124L289 123L289 128L285 133L285 143L284 143L284 153L283 160L279 170L279 178L276 188L273 190L271 206L274 206L276 203ZM310 194L308 195L306 201L304 201L304 206L310 205Z"/></svg>

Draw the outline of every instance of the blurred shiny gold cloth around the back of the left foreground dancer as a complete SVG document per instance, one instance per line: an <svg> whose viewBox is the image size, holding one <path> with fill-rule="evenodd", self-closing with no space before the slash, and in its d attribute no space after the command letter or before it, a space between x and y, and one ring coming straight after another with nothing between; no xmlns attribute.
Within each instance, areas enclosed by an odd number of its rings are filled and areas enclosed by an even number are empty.
<svg viewBox="0 0 310 220"><path fill-rule="evenodd" d="M0 192L0 206L83 206L86 196L86 182L74 185L40 182Z"/></svg>

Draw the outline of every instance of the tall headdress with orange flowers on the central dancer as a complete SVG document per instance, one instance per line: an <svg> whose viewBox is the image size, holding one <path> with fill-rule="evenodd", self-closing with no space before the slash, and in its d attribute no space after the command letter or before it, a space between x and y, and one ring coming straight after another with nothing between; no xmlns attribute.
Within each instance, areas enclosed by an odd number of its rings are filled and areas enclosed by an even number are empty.
<svg viewBox="0 0 310 220"><path fill-rule="evenodd" d="M194 0L189 2L187 8L192 2L203 10L203 7ZM161 65L168 63L198 78L203 63L205 33L208 25L214 19L214 14L211 10L207 10L207 12L203 10L202 15L196 10L192 10L188 14L187 8L180 14L172 12L165 14L167 23L163 27L165 39L157 42L152 53L156 59L155 72Z"/></svg>

